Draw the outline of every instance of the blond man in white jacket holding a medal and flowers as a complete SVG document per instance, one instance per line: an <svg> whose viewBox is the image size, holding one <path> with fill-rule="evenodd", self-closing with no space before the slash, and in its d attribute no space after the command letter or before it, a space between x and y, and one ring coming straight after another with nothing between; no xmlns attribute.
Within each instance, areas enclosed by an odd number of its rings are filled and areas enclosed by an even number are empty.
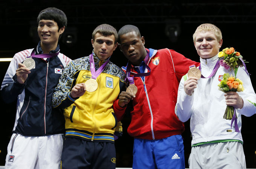
<svg viewBox="0 0 256 169"><path fill-rule="evenodd" d="M243 92L218 90L224 73L235 75L234 70L218 67L218 52L222 45L222 35L213 24L200 25L193 35L194 45L200 56L200 79L181 79L175 113L185 122L190 118L192 149L189 168L246 168L243 140L231 120L223 118L227 106L236 109L237 123L241 131L241 115L256 113L256 94L245 67L239 67L236 77L244 83ZM206 78L204 78L206 77Z"/></svg>

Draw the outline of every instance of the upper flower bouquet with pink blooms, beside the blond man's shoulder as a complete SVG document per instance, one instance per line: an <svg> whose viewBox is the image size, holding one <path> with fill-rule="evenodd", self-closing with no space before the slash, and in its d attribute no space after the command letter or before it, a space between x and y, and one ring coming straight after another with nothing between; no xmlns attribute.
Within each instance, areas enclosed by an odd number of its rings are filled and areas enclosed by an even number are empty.
<svg viewBox="0 0 256 169"><path fill-rule="evenodd" d="M236 52L234 48L225 48L218 53L219 64L225 69L235 69L236 67L243 66L242 61L239 58L242 58L239 52Z"/></svg>

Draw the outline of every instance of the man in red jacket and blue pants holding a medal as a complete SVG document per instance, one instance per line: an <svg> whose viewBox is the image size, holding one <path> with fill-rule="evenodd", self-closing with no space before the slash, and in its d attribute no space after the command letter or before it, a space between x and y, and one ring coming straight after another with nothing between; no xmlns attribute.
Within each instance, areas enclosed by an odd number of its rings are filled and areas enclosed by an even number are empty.
<svg viewBox="0 0 256 169"><path fill-rule="evenodd" d="M133 107L128 127L134 137L133 169L184 169L184 124L174 108L180 79L189 66L198 63L171 49L146 49L134 25L123 26L118 36L119 47L129 60L123 69L130 87L119 94L114 110L120 120L129 102Z"/></svg>

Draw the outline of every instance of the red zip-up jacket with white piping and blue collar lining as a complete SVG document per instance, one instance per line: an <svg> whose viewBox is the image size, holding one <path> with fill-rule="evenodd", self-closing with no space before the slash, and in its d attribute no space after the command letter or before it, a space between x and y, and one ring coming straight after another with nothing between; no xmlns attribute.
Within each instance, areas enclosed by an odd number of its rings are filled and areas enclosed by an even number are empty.
<svg viewBox="0 0 256 169"><path fill-rule="evenodd" d="M148 66L151 73L144 78L134 77L138 92L132 100L128 134L134 138L151 140L181 135L184 123L178 120L174 112L178 86L189 66L199 66L199 63L167 48L146 50L149 52ZM126 67L123 70L126 72ZM135 73L137 72L131 66L131 76ZM120 120L125 108L118 105L118 100L114 103L114 111Z"/></svg>

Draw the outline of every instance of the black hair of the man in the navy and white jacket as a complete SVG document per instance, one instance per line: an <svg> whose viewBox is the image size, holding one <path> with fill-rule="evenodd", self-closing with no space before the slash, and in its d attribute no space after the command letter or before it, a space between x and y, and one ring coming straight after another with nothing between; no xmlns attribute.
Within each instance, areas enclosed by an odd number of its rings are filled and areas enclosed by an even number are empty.
<svg viewBox="0 0 256 169"><path fill-rule="evenodd" d="M64 26L67 27L67 16L62 10L57 9L56 7L48 7L41 10L37 17L37 25L42 19L55 21L58 25L58 31Z"/></svg>

